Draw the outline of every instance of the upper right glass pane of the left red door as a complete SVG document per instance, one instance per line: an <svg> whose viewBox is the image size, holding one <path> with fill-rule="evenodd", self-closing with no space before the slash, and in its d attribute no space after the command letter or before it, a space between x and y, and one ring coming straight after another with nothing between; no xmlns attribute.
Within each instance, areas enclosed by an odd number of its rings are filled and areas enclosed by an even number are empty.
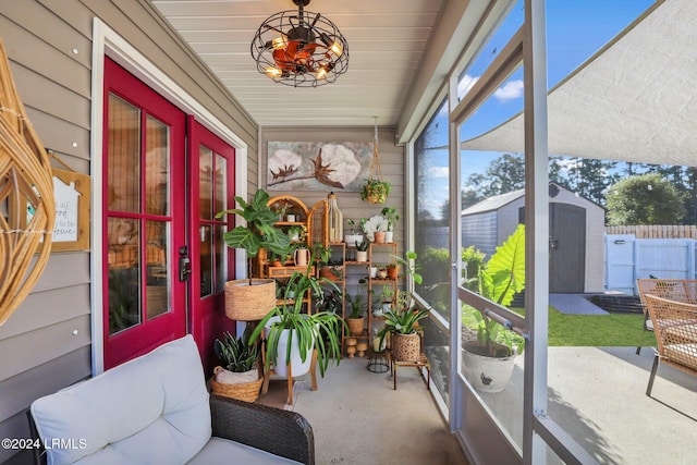
<svg viewBox="0 0 697 465"><path fill-rule="evenodd" d="M169 127L148 115L146 118L146 212L169 215L170 147Z"/></svg>

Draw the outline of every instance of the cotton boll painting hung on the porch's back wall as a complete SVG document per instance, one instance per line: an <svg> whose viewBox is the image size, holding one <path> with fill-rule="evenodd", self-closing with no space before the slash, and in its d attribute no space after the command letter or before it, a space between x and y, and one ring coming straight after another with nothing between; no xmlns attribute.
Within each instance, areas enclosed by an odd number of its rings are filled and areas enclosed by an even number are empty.
<svg viewBox="0 0 697 465"><path fill-rule="evenodd" d="M372 143L270 142L268 191L358 192L370 173Z"/></svg>

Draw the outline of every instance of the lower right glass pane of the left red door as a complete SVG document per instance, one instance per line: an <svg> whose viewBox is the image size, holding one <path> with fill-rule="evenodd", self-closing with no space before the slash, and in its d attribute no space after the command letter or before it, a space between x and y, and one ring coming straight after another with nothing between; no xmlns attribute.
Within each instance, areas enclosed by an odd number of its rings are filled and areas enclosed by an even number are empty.
<svg viewBox="0 0 697 465"><path fill-rule="evenodd" d="M151 319L170 310L169 287L170 267L168 266L168 228L169 222L147 221L146 242L146 310Z"/></svg>

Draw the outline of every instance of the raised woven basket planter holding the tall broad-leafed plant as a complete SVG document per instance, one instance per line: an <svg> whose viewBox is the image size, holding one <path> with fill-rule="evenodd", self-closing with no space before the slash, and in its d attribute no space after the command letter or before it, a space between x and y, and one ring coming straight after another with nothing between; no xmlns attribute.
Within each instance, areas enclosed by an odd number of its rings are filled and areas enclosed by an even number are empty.
<svg viewBox="0 0 697 465"><path fill-rule="evenodd" d="M225 283L225 315L235 321L257 321L276 307L276 281L248 279Z"/></svg>

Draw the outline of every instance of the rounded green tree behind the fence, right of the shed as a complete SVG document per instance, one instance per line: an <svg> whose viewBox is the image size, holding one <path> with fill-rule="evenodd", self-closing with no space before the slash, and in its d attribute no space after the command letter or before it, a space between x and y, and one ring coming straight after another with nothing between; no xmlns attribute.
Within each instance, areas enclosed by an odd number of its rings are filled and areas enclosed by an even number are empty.
<svg viewBox="0 0 697 465"><path fill-rule="evenodd" d="M608 224L675 224L685 215L675 187L660 174L626 178L607 197Z"/></svg>

